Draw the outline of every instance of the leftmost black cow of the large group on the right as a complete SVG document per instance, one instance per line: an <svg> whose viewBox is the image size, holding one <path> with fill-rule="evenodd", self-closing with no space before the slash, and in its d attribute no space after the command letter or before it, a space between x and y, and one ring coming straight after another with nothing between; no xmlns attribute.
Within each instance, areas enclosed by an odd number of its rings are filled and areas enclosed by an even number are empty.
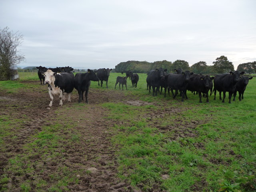
<svg viewBox="0 0 256 192"><path fill-rule="evenodd" d="M157 92L160 89L160 81L161 81L161 79L164 79L164 72L166 72L166 71L167 71L167 69L164 70L163 68L159 68L159 69L156 68L156 70L152 70L148 73L148 76L146 79L147 87L148 87L149 92L152 87L153 96L155 93L157 96Z"/></svg>

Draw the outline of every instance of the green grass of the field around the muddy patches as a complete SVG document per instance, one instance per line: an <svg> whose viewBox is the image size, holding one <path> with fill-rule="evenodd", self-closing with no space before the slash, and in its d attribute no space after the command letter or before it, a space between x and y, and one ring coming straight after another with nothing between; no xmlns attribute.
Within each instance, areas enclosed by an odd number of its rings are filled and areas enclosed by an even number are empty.
<svg viewBox="0 0 256 192"><path fill-rule="evenodd" d="M122 91L122 87L119 90L118 86L114 90L117 76L122 75L110 73L108 90L105 82L103 87L99 87L98 82L92 82L88 105L77 104L73 100L70 105L64 104L63 107L51 110L54 110L55 115L67 117L65 115L68 114L70 118L76 118L72 114L84 113L92 108L104 109L106 113L102 119L112 122L107 126L106 138L112 148L117 146L114 152L115 177L132 186L132 189L120 188L121 191L256 191L255 77L250 80L241 102L238 96L231 104L228 104L227 98L222 103L210 96L210 103L202 98L203 103L200 104L198 95L192 93L188 93L189 100L184 102L181 102L180 97L174 100L168 95L166 98L163 95L152 97L146 90L146 74L139 74L137 88L132 88L130 80L127 80L128 90ZM20 82L0 82L0 101L21 90L37 91L39 84L36 73L20 74ZM47 88L44 89L41 91L47 93ZM116 99L116 102L110 100L90 104L91 92L104 94L105 91L113 94L113 97L115 94L123 96ZM72 95L76 96L77 92ZM42 106L46 108L49 99L42 99L47 101ZM137 102L141 104L137 105ZM12 108L17 106L8 107ZM1 156L8 153L6 141L11 138L15 143L20 125L30 120L26 114L24 118L13 118L12 112L0 113ZM65 121L63 126L58 119L54 126L47 126L47 118L45 121L46 125L41 130L26 138L22 144L22 154L2 158L1 191L12 191L15 187L19 187L20 191L74 191L68 186L80 184L74 175L82 174L82 169L68 166L56 168L50 180L35 179L40 178L40 173L35 174L36 167L41 166L42 170L47 168L39 160L32 162L30 159L34 159L34 156L41 159L48 154L51 154L51 159L65 159L67 157L62 156L66 150L65 145L82 145L82 138L85 137L76 129L78 123ZM63 136L63 132L67 132L66 135ZM92 145L89 140L86 143ZM58 152L54 152L56 148ZM23 176L23 179L15 183L12 173L16 178ZM34 175L30 176L32 173ZM55 179L57 176L58 179Z"/></svg>

